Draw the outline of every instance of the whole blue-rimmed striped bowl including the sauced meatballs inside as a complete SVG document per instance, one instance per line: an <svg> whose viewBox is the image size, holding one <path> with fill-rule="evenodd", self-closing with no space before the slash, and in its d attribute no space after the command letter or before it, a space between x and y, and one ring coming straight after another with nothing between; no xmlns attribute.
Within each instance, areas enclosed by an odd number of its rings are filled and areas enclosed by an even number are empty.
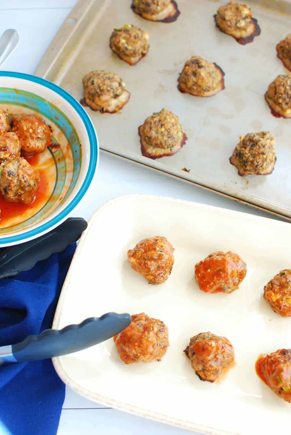
<svg viewBox="0 0 291 435"><path fill-rule="evenodd" d="M99 151L89 116L65 90L28 74L0 77L0 246L11 246L69 217Z"/></svg>

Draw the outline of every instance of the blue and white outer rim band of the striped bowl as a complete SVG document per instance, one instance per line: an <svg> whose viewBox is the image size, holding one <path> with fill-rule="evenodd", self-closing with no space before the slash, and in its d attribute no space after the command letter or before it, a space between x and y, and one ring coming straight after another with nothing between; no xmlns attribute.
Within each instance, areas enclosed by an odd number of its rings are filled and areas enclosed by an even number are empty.
<svg viewBox="0 0 291 435"><path fill-rule="evenodd" d="M3 245L3 244L18 244L21 243L22 241L26 241L27 239L36 238L41 233L43 234L55 228L58 224L60 224L62 221L66 219L69 213L71 213L73 209L82 200L83 196L85 195L86 191L88 190L93 180L93 176L95 174L95 171L97 170L98 162L99 162L99 142L95 131L95 127L93 126L93 123L89 115L86 113L86 110L83 109L83 107L81 106L79 101L76 100L76 98L74 98L71 94L69 94L69 92L67 92L60 86L48 80L45 80L41 77L36 77L31 74L18 73L13 71L0 71L0 77L16 77L27 81L32 81L34 83L40 84L41 86L47 87L48 89L56 92L56 94L60 95L64 100L66 100L78 113L79 117L81 118L86 128L86 132L88 134L89 144L90 144L90 158L89 158L88 171L82 186L79 188L79 191L76 193L72 201L70 201L69 204L62 211L60 211L60 213L58 213L54 218L50 219L49 221L45 222L42 225L37 226L36 228L33 228L28 231L24 230L24 232L22 232L21 234L14 234L13 236L8 236L8 237L6 236L2 237L0 235L0 245Z"/></svg>

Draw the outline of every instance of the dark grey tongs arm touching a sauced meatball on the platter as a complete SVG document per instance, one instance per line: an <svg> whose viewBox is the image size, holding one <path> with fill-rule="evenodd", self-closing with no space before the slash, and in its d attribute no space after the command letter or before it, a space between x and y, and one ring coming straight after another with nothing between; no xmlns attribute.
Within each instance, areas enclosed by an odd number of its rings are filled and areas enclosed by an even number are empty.
<svg viewBox="0 0 291 435"><path fill-rule="evenodd" d="M11 346L0 347L1 362L26 362L67 355L97 345L123 331L131 322L129 314L107 313L92 317L79 325L69 325L61 330L47 329L40 335L29 335ZM3 350L3 351L2 351ZM6 351L6 354L4 354Z"/></svg>

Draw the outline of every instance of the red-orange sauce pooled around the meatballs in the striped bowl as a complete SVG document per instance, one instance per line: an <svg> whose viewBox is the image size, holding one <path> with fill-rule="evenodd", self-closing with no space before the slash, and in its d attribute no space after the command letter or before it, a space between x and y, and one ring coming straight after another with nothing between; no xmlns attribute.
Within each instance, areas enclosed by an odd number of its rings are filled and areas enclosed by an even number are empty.
<svg viewBox="0 0 291 435"><path fill-rule="evenodd" d="M38 155L35 154L32 157L25 157L31 166L36 166L38 163ZM39 170L40 183L35 195L35 199L30 204L17 204L6 201L3 196L0 195L0 210L1 210L1 227L9 226L9 221L21 214L24 214L29 209L35 209L37 212L41 204L43 204L44 198L47 196L47 189L49 186L46 173L43 170ZM31 216L30 216L31 217Z"/></svg>

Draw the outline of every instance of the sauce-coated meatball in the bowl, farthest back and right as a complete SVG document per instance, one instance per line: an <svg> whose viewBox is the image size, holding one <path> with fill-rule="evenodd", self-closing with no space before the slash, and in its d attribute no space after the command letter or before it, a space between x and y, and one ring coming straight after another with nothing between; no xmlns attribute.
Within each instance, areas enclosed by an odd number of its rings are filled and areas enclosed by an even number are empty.
<svg viewBox="0 0 291 435"><path fill-rule="evenodd" d="M18 136L24 156L42 153L53 143L50 126L36 115L13 115L12 131Z"/></svg>

